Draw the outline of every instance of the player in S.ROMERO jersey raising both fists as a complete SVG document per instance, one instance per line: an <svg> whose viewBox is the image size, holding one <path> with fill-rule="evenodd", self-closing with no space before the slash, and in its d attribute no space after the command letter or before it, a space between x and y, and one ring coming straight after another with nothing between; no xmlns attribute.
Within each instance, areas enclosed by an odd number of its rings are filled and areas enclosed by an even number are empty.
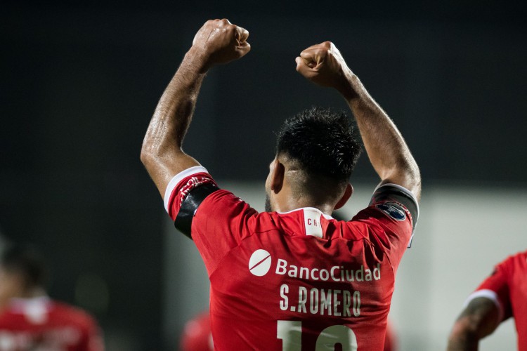
<svg viewBox="0 0 527 351"><path fill-rule="evenodd" d="M337 48L329 41L311 46L296 62L300 74L336 89L349 103L381 178L370 206L351 221L330 216L351 196L349 178L360 152L344 114L312 108L285 121L263 213L222 190L181 149L205 75L247 54L248 36L225 19L201 27L141 150L169 216L193 239L207 268L214 347L382 350L396 270L417 222L421 180L401 133Z"/></svg>

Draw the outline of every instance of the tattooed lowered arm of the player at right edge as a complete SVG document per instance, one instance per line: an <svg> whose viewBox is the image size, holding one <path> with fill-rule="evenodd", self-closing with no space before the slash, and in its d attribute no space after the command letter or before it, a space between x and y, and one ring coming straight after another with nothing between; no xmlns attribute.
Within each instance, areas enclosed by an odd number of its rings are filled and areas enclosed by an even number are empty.
<svg viewBox="0 0 527 351"><path fill-rule="evenodd" d="M471 300L457 318L448 338L448 351L477 351L479 340L500 324L500 310L490 298Z"/></svg>

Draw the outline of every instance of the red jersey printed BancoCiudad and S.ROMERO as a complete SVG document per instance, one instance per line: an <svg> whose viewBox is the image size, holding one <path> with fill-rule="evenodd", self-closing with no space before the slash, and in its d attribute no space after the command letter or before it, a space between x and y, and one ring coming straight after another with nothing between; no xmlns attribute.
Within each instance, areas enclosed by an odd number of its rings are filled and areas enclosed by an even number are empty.
<svg viewBox="0 0 527 351"><path fill-rule="evenodd" d="M383 349L417 201L383 185L351 221L316 208L258 213L198 166L169 183L166 208L211 283L216 350Z"/></svg>

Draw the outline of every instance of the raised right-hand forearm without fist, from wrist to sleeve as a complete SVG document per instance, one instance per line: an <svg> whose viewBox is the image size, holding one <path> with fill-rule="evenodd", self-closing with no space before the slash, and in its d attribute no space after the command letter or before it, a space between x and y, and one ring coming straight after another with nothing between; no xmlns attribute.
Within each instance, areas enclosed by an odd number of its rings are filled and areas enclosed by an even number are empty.
<svg viewBox="0 0 527 351"><path fill-rule="evenodd" d="M358 77L345 73L344 84L338 87L357 121L370 162L383 183L395 183L421 192L419 168L393 121L373 100Z"/></svg>

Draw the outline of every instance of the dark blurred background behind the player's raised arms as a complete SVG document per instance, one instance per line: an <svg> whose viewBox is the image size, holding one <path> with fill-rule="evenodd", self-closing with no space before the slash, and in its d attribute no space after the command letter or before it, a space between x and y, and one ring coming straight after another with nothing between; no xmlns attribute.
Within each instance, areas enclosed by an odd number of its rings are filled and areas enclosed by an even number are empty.
<svg viewBox="0 0 527 351"><path fill-rule="evenodd" d="M520 1L3 2L4 237L44 251L51 296L136 350L173 350L160 331L166 214L139 152L203 22L229 18L252 44L209 73L186 139L213 176L263 186L285 117L346 109L294 69L331 40L401 129L425 196L433 184L526 185L526 14ZM354 177L375 179L366 157Z"/></svg>

